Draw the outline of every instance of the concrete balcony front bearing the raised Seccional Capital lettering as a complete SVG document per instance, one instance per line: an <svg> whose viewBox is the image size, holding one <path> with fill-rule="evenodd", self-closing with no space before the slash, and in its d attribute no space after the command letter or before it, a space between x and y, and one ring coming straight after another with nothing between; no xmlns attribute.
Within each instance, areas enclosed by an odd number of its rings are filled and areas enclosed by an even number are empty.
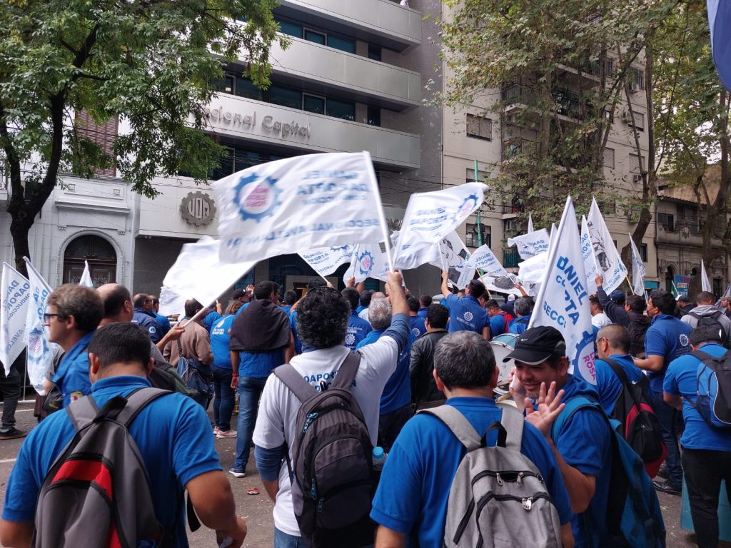
<svg viewBox="0 0 731 548"><path fill-rule="evenodd" d="M421 137L243 97L217 94L208 132L300 152L368 151L384 167L420 166Z"/></svg>

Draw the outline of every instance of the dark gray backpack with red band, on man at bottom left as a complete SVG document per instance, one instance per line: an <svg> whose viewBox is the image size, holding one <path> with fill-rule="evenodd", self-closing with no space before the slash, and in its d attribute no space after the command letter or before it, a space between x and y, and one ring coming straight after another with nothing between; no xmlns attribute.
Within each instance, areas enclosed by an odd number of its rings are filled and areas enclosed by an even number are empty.
<svg viewBox="0 0 731 548"><path fill-rule="evenodd" d="M166 394L143 388L113 397L101 410L91 396L66 408L76 434L41 486L34 547L162 544L147 469L127 428L148 403Z"/></svg>

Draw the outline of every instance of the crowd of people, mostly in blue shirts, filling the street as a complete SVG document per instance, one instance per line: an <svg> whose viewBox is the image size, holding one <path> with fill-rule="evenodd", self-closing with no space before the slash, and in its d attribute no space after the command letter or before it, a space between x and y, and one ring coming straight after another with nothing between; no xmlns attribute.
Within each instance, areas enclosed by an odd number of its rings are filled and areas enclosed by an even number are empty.
<svg viewBox="0 0 731 548"><path fill-rule="evenodd" d="M667 446L654 489L680 495L686 484L698 545L716 548L721 482L731 486L731 429L708 424L698 411L697 371L705 357L720 359L727 352L731 297L716 305L713 294L699 292L693 306L658 290L645 301L621 290L607 294L597 277L598 289L590 299L593 384L569 373L560 332L529 327L535 303L522 288L522 296L501 303L479 280L452 292L447 278L442 273L440 302L409 294L398 273L388 275L383 292L368 291L353 279L338 291L311 278L301 298L292 290L280 294L277 283L261 281L235 290L225 306L216 303L208 309L197 300L186 301L186 319L174 327L159 315L154 295L132 296L115 283L96 290L59 286L45 313L48 340L62 349L48 371L47 397L56 392L58 407L69 408L91 395L103 408L117 396L159 386L151 373L174 368L183 358L210 370L213 424L205 405L184 391L158 397L129 424L148 472L156 520L173 546L188 545L185 492L200 521L216 530L221 546L240 546L246 536L246 521L235 513L232 489L238 484L232 487L226 479L213 438L236 438L231 476L246 477L255 465L274 501L276 548L391 548L438 547L445 534L473 534L467 515L461 530L454 531L450 492L455 491L455 476L475 447L506 446L507 435L507 446L530 463L527 475L538 477L545 491L530 499L527 508L523 498L523 510L531 509L531 500L534 506L539 498L550 501L545 515L552 517L555 530L543 545L602 547L610 539L607 506L616 465L607 417L613 416L623 382L640 385L646 378L645 393ZM505 333L515 335L502 359L514 365L507 379L509 395L522 416L495 399L501 364L489 341ZM293 368L302 386L292 387L283 364ZM618 375L617 365L624 376ZM341 368L347 370L343 375L352 374L349 387L342 386L349 382L336 383ZM351 443L346 436L328 441L312 463L303 464L311 450L302 446L305 433L322 429L318 439L325 439L327 427L317 426L318 420L325 424L320 417L337 406L308 414L300 410L319 405L317 398L330 393L351 398L345 407L350 406L354 428L360 425L366 438L356 449L352 444L345 449ZM575 400L592 405L574 406L567 413ZM445 407L450 409L446 413ZM0 542L7 547L31 544L47 473L75 440L72 414L46 416L48 406L44 408L7 484L0 522ZM4 431L14 437L13 414L12 398L6 399L0 438ZM465 441L470 436L474 446ZM254 463L249 460L252 446ZM351 482L346 485L344 478L327 475L328 466L343 466L348 459L362 465L363 458L378 473L346 478ZM382 459L381 469L376 460ZM308 472L308 467L314 470ZM308 473L317 482L304 485ZM498 473L496 482L520 487L520 474L503 480ZM328 487L328 482L336 483ZM355 491L361 484L370 493L367 511L347 515L355 511L349 509L361 508L360 495L352 494L363 492ZM338 490L351 494L341 499ZM314 511L308 510L312 501L317 502ZM504 544L495 545L526 545L521 536L527 542L535 531L521 530L520 522L507 519L510 511L507 504L498 504L484 518L503 524L491 534ZM653 526L664 531L662 522Z"/></svg>

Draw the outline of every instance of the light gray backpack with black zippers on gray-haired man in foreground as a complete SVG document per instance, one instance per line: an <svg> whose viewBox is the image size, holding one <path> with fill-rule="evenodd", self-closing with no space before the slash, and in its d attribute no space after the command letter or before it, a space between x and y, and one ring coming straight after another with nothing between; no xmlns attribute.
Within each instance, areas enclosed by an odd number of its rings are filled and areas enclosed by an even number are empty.
<svg viewBox="0 0 731 548"><path fill-rule="evenodd" d="M500 404L499 404L500 405ZM467 449L452 481L444 547L561 548L561 523L536 465L520 453L523 415L500 405L498 444L485 446L456 408L419 411L444 422Z"/></svg>

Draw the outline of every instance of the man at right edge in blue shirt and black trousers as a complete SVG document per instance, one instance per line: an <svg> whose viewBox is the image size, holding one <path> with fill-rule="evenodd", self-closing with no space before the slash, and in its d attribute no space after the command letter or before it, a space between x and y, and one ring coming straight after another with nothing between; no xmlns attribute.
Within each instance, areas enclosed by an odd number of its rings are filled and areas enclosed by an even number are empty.
<svg viewBox="0 0 731 548"><path fill-rule="evenodd" d="M712 325L697 327L690 334L693 351L713 357L726 354L719 330ZM719 544L719 490L726 482L731 504L731 429L712 427L694 407L698 397L700 359L686 354L670 362L663 382L665 403L683 412L681 435L683 471L688 487L690 514L700 548Z"/></svg>

